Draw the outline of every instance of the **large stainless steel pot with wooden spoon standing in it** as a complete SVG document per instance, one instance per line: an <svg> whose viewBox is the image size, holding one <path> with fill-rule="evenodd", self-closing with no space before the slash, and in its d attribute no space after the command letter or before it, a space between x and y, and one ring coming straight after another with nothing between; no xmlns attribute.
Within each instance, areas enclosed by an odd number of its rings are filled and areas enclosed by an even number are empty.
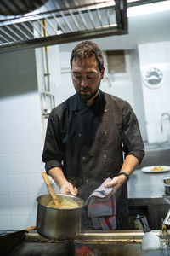
<svg viewBox="0 0 170 256"><path fill-rule="evenodd" d="M48 207L51 195L41 195L37 198L37 232L49 239L69 239L81 231L82 207L84 201L72 195L57 194L59 203L77 202L75 209L57 209Z"/></svg>

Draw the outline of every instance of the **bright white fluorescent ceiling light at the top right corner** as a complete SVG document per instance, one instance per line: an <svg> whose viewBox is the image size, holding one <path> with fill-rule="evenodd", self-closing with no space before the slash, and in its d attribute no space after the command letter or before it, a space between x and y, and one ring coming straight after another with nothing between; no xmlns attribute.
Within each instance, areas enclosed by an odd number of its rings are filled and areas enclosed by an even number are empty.
<svg viewBox="0 0 170 256"><path fill-rule="evenodd" d="M170 1L147 3L144 5L129 7L127 9L127 17L149 15L166 10L170 10Z"/></svg>

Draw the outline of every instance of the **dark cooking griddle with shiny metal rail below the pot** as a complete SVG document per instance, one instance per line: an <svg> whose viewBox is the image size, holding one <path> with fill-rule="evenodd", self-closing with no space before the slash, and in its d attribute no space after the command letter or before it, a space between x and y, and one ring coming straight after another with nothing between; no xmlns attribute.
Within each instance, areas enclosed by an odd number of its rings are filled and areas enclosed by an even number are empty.
<svg viewBox="0 0 170 256"><path fill-rule="evenodd" d="M153 231L160 236L161 230ZM130 255L130 256L168 256L169 248L143 251L141 247L142 230L89 231L82 232L74 240L48 240L36 231L26 234L25 241L14 248L8 256L65 256L65 255Z"/></svg>

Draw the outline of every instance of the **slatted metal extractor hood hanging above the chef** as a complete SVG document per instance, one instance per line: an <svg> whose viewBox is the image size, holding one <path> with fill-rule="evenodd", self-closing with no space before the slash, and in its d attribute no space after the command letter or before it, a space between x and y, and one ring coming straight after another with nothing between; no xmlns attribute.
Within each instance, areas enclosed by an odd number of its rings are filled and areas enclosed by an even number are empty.
<svg viewBox="0 0 170 256"><path fill-rule="evenodd" d="M0 2L0 52L126 33L126 0Z"/></svg>

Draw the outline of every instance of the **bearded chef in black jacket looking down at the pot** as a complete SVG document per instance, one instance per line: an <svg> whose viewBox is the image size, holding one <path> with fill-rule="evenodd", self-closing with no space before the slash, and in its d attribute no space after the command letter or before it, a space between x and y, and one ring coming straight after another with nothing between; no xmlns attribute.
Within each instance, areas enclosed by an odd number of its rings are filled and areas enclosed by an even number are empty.
<svg viewBox="0 0 170 256"><path fill-rule="evenodd" d="M104 74L99 46L92 41L77 44L71 53L76 94L50 113L42 161L59 193L85 201L111 177L105 187L116 194L116 226L125 230L127 181L144 157L144 143L130 104L100 90ZM82 218L82 230L92 229L86 208Z"/></svg>

